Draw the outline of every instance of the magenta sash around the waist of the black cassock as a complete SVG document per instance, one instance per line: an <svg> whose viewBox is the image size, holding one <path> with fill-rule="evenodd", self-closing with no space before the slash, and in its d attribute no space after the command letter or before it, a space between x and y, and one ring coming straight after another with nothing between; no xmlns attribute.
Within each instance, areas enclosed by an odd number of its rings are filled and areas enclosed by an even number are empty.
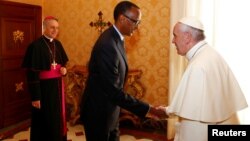
<svg viewBox="0 0 250 141"><path fill-rule="evenodd" d="M41 71L39 74L40 79L51 79L51 78L61 78L62 74L60 73L61 65L57 64L56 66L50 67L49 71ZM62 79L62 93L61 93L61 106L62 106L62 121L63 121L63 135L67 134L67 123L66 123L66 108L65 108L65 95L64 95L64 82Z"/></svg>

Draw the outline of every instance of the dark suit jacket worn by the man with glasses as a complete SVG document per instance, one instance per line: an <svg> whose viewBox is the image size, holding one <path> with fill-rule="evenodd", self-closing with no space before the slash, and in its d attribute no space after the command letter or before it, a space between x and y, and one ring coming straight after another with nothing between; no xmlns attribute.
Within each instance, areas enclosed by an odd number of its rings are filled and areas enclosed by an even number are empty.
<svg viewBox="0 0 250 141"><path fill-rule="evenodd" d="M96 41L88 69L81 104L83 122L102 120L112 126L118 121L120 107L145 117L149 105L124 92L128 64L123 41L113 26Z"/></svg>

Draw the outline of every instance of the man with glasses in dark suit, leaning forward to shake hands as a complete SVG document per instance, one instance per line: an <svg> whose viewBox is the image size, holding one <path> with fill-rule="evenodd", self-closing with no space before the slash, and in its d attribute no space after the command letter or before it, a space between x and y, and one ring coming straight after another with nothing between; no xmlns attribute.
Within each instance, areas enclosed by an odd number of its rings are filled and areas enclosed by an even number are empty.
<svg viewBox="0 0 250 141"><path fill-rule="evenodd" d="M164 116L124 92L128 72L124 36L131 36L141 20L140 8L122 1L114 9L115 24L104 31L91 53L89 76L81 104L81 120L87 141L119 141L120 107L139 117Z"/></svg>

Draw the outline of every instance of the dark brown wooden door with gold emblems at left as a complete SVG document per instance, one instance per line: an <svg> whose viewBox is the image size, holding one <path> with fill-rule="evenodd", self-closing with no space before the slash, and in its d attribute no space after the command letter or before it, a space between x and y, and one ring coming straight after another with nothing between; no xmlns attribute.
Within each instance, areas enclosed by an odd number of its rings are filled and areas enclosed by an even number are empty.
<svg viewBox="0 0 250 141"><path fill-rule="evenodd" d="M21 130L30 118L31 100L25 70L28 45L41 36L40 6L0 1L0 140Z"/></svg>

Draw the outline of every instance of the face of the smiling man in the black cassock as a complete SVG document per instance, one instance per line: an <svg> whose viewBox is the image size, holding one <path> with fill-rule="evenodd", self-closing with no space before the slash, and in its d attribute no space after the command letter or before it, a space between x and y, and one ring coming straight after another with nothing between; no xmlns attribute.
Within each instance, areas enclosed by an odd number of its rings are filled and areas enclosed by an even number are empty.
<svg viewBox="0 0 250 141"><path fill-rule="evenodd" d="M44 26L44 35L49 38L56 38L59 32L59 24L56 20L47 20Z"/></svg>

